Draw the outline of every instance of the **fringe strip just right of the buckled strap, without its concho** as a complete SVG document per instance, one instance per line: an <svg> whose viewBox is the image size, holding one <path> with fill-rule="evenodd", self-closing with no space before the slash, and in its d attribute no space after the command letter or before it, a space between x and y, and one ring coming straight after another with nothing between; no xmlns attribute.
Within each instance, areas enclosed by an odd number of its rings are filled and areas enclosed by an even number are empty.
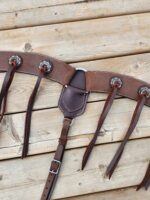
<svg viewBox="0 0 150 200"><path fill-rule="evenodd" d="M115 98L117 92L118 92L118 88L117 87L113 87L111 89L111 91L110 91L110 94L108 95L108 98L107 98L107 100L105 102L103 111L102 111L101 116L100 116L99 121L98 121L97 129L96 129L96 131L94 133L94 136L93 136L91 142L89 143L89 145L87 146L87 148L85 150L85 153L84 153L84 156L83 156L83 160L82 160L82 170L84 169L84 167L85 167L85 165L86 165L86 163L87 163L87 161L89 159L89 156L90 156L90 154L92 152L92 149L93 149L93 147L95 145L96 139L97 139L97 137L99 135L100 129L102 128L102 125L103 125L103 123L104 123L104 121L105 121L105 119L107 117L107 114L108 114L108 112L109 112L109 110L110 110L110 108L112 106L112 103L114 101L114 98Z"/></svg>

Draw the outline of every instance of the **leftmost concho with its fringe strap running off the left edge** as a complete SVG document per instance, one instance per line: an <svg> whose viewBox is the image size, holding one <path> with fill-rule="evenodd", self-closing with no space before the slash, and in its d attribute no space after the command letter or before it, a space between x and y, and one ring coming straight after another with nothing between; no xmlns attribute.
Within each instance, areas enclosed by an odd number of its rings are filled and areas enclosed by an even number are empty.
<svg viewBox="0 0 150 200"><path fill-rule="evenodd" d="M15 71L21 66L21 64L21 57L14 55L9 58L9 68L6 72L0 93L0 122L2 121L5 113L9 87L12 83Z"/></svg>

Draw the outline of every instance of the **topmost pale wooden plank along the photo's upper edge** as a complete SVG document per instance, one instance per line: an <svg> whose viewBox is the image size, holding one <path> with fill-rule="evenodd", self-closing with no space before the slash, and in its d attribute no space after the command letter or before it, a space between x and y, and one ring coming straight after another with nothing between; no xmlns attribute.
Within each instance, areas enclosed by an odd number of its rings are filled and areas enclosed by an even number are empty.
<svg viewBox="0 0 150 200"><path fill-rule="evenodd" d="M1 30L150 11L149 0L17 1L11 9L8 4L0 2Z"/></svg>

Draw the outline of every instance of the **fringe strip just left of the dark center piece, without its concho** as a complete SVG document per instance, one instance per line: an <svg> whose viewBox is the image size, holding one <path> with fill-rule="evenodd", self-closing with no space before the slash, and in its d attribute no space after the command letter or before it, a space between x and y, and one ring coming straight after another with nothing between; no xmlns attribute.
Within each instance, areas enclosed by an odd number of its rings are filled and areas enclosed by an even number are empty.
<svg viewBox="0 0 150 200"><path fill-rule="evenodd" d="M29 135L30 135L30 128L31 128L32 109L33 109L36 94L37 94L37 91L38 91L38 88L43 76L44 74L40 72L38 79L36 81L36 84L34 86L33 92L28 101L26 118L25 118L24 145L23 145L23 150L22 150L22 159L25 158L28 154L28 143L29 143Z"/></svg>

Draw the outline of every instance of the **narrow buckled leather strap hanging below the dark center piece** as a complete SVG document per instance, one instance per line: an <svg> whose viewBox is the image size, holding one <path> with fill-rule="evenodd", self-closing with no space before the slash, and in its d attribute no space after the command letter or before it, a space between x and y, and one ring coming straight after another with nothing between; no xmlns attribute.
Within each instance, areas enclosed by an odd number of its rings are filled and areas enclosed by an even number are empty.
<svg viewBox="0 0 150 200"><path fill-rule="evenodd" d="M63 155L64 155L64 151L65 151L65 146L67 143L67 136L68 136L71 122L72 122L72 119L64 118L63 128L61 131L61 136L59 138L59 144L58 144L54 159L52 160L52 163L51 163L49 175L48 175L45 187L44 187L44 191L43 191L41 200L50 200L51 199L53 189L55 187L56 180L58 178L58 174L60 171L61 163L63 160Z"/></svg>

